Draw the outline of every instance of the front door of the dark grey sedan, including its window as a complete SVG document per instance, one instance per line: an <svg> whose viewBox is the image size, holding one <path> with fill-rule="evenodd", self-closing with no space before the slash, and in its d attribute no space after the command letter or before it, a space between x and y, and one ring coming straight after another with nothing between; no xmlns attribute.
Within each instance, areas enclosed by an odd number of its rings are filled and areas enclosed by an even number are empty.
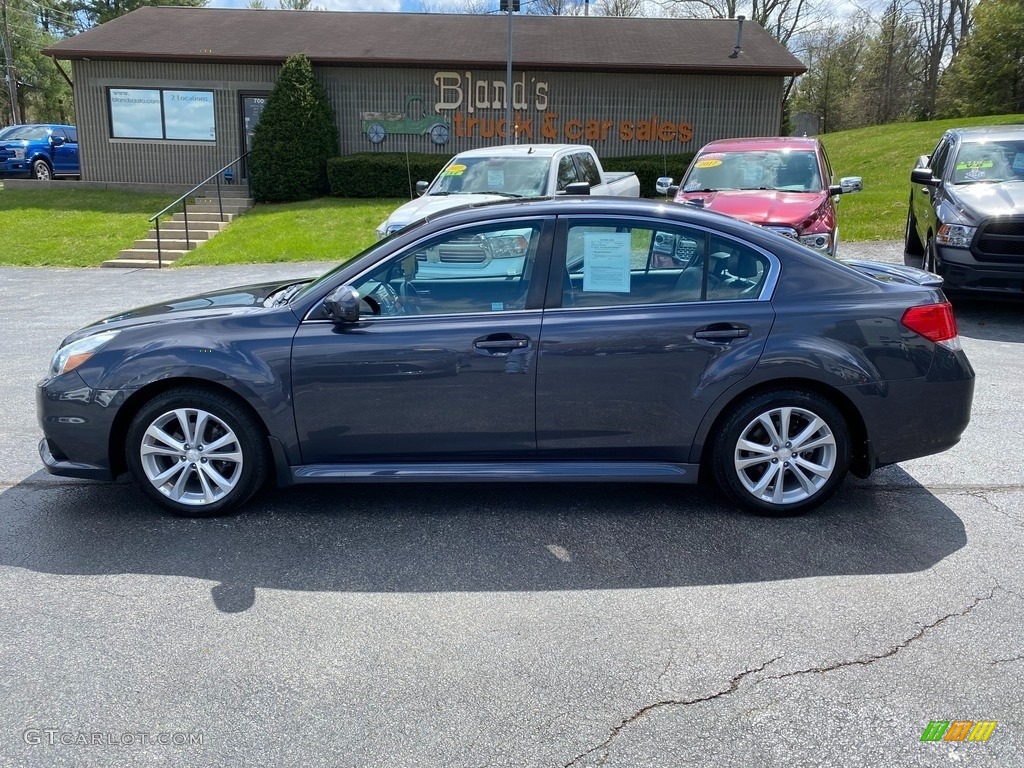
<svg viewBox="0 0 1024 768"><path fill-rule="evenodd" d="M303 463L532 458L550 227L421 241L351 283L358 323L314 310L292 350ZM502 274L483 268L496 260Z"/></svg>

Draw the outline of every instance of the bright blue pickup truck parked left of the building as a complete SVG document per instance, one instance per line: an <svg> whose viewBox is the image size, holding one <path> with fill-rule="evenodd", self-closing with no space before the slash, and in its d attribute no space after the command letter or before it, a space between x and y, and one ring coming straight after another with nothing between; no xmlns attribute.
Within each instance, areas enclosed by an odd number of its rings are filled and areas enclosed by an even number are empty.
<svg viewBox="0 0 1024 768"><path fill-rule="evenodd" d="M81 176L78 130L73 125L12 125L0 129L0 178L28 176L48 181Z"/></svg>

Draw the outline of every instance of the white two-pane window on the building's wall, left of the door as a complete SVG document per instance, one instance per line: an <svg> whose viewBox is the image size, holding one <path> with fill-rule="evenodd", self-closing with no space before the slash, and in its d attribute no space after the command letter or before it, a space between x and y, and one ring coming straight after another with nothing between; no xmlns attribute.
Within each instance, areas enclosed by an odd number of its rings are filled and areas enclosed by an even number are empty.
<svg viewBox="0 0 1024 768"><path fill-rule="evenodd" d="M113 138L214 141L213 91L110 88Z"/></svg>

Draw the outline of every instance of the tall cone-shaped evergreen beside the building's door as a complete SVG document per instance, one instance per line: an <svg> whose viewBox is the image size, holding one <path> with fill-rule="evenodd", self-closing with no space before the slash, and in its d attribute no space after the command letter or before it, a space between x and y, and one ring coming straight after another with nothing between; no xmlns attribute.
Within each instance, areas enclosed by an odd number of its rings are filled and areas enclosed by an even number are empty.
<svg viewBox="0 0 1024 768"><path fill-rule="evenodd" d="M327 161L338 154L334 110L303 54L290 56L253 133L253 197L280 203L328 190Z"/></svg>

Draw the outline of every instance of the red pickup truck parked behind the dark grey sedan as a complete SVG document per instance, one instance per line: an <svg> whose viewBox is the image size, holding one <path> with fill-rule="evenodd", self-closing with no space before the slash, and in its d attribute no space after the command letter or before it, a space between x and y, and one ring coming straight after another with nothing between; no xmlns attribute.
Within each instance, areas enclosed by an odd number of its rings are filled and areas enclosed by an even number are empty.
<svg viewBox="0 0 1024 768"><path fill-rule="evenodd" d="M840 195L863 188L860 176L834 184L825 148L816 138L730 138L701 147L679 185L657 191L733 216L836 255Z"/></svg>

